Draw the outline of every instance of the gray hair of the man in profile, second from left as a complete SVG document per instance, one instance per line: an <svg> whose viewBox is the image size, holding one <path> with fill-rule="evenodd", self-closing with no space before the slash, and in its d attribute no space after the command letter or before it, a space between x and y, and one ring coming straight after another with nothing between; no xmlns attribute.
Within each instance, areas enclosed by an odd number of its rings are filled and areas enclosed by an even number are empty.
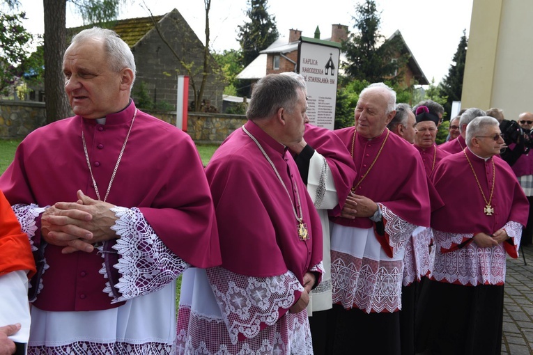
<svg viewBox="0 0 533 355"><path fill-rule="evenodd" d="M298 101L298 88L305 93L305 85L288 75L268 74L261 78L252 90L246 118L268 118L281 108L292 112Z"/></svg>

